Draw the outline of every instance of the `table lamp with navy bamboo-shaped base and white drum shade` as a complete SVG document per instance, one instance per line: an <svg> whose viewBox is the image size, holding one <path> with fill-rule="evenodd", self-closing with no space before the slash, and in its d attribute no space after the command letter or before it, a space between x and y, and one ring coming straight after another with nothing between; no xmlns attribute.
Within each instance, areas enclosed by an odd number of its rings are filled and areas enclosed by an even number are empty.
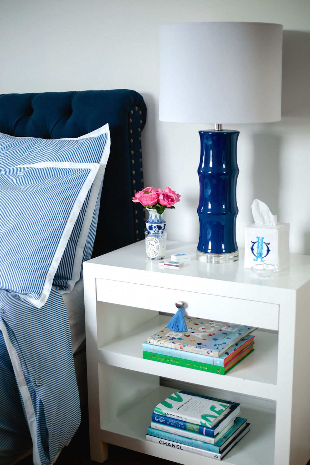
<svg viewBox="0 0 310 465"><path fill-rule="evenodd" d="M159 120L215 124L199 131L199 261L238 259L239 132L222 125L281 120L282 29L247 22L159 27Z"/></svg>

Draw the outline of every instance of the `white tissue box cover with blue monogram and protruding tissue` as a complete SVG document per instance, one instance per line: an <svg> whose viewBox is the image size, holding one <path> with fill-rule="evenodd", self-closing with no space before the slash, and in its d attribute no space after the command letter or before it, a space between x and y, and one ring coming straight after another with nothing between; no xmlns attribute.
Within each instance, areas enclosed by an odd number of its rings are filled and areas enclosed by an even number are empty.
<svg viewBox="0 0 310 465"><path fill-rule="evenodd" d="M252 214L255 224L244 228L244 268L266 260L284 270L290 264L289 223L277 223L277 216L258 199L252 203Z"/></svg>

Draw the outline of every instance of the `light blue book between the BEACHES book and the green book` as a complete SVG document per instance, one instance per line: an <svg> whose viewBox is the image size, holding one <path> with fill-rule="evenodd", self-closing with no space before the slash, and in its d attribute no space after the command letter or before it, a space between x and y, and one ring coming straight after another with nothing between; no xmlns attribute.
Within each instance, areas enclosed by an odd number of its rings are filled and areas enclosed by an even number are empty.
<svg viewBox="0 0 310 465"><path fill-rule="evenodd" d="M228 365L240 352L243 352L249 345L254 344L255 336L249 334L242 338L239 342L229 347L223 355L220 357L212 357L211 355L202 355L194 352L185 352L184 350L178 350L175 344L168 343L165 345L154 345L148 344L145 341L142 344L142 350L144 352L152 352L159 355L165 355L168 357L178 357L178 359L186 359L192 362L206 363L208 365L215 366L226 366Z"/></svg>

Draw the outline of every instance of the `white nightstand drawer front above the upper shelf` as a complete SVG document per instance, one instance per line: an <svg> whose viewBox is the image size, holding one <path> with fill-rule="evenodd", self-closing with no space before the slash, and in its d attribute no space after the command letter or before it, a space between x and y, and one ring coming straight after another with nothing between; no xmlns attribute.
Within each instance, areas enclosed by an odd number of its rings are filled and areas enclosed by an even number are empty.
<svg viewBox="0 0 310 465"><path fill-rule="evenodd" d="M168 313L175 313L175 302L183 300L186 314L193 317L271 330L278 330L279 326L279 306L276 304L111 279L97 278L97 300Z"/></svg>

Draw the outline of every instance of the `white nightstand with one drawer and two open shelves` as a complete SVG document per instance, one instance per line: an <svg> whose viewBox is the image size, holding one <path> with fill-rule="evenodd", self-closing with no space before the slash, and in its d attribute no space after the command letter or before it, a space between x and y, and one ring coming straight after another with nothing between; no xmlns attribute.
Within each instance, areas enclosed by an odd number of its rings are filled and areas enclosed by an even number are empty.
<svg viewBox="0 0 310 465"><path fill-rule="evenodd" d="M240 402L251 431L224 458L234 465L305 465L310 459L310 257L259 279L240 260L206 265L195 244L180 269L163 269L138 242L84 264L88 405L92 460L107 443L186 465L213 459L145 441L153 408L175 389ZM241 251L242 252L242 251ZM142 359L142 343L185 301L188 315L257 326L255 351L227 375Z"/></svg>

